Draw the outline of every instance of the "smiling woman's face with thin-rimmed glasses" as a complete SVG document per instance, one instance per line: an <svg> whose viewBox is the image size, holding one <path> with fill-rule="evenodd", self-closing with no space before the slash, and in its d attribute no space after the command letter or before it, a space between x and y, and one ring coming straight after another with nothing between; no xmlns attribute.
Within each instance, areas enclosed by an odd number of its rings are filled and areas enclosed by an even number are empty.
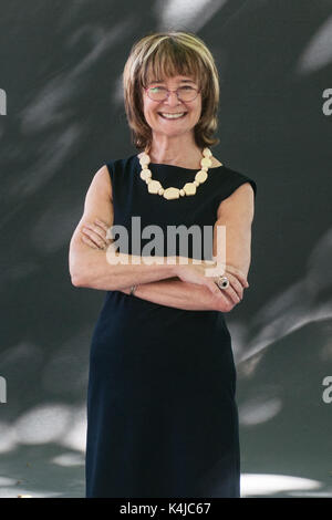
<svg viewBox="0 0 332 520"><path fill-rule="evenodd" d="M198 90L191 76L177 75L167 77L163 82L149 82L147 86L165 86L175 91L179 86L190 85ZM177 98L176 92L169 93L165 101L153 101L148 97L146 91L143 90L143 108L147 124L153 133L176 136L193 132L194 127L200 118L201 112L201 94L199 93L194 101L183 102ZM166 119L162 114L175 114L185 112L184 117Z"/></svg>

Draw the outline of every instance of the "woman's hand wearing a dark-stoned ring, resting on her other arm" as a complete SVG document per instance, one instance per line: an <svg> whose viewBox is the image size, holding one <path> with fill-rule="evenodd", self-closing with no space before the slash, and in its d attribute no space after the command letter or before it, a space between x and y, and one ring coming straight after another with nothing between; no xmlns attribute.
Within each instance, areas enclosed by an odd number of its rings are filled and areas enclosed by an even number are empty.
<svg viewBox="0 0 332 520"><path fill-rule="evenodd" d="M180 280L206 285L219 301L227 303L229 310L242 300L243 289L248 288L249 283L239 269L228 264L225 266L225 271L220 274L228 278L229 287L220 289L217 285L219 277L208 275L209 269L216 270L218 266L216 262L201 261L200 263L193 263L193 259L189 260L189 263L176 266L176 274Z"/></svg>

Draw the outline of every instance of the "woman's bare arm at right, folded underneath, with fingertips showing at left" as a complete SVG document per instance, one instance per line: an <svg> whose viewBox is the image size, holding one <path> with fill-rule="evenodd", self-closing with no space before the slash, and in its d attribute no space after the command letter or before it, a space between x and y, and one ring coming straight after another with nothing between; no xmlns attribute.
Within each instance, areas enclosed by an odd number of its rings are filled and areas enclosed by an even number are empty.
<svg viewBox="0 0 332 520"><path fill-rule="evenodd" d="M187 283L178 277L154 282L138 284L135 297L152 301L162 305L185 310L218 310L229 312L242 300L243 288L249 287L247 273L250 263L251 222L253 218L253 195L250 185L240 186L228 199L224 200L217 212L217 221L214 236L214 256L217 253L217 226L224 225L227 229L226 237L226 274L231 281L226 291L216 290L212 293L207 287L198 283ZM107 226L100 222L92 226L86 243L95 247L91 239L97 243L101 238L105 246L105 231ZM96 235L96 231L98 235ZM83 231L84 232L84 231ZM188 259L190 263L191 259ZM175 273L183 266L177 266ZM122 288L122 292L129 294L129 287Z"/></svg>

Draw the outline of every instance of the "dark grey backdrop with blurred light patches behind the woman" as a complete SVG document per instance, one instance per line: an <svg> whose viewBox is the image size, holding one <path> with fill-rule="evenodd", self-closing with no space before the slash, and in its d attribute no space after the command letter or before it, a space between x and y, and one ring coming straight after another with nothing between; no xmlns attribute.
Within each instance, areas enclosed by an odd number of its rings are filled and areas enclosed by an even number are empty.
<svg viewBox="0 0 332 520"><path fill-rule="evenodd" d="M71 284L69 242L94 173L136 152L122 71L136 39L165 29L210 48L214 153L258 185L250 289L226 315L242 493L332 497L329 0L0 1L0 497L84 496L104 292Z"/></svg>

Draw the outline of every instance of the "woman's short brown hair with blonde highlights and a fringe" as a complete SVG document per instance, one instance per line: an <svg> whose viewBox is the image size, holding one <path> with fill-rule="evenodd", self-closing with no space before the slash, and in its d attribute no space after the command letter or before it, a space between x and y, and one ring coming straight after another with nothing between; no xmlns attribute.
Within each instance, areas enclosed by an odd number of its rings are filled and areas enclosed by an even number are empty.
<svg viewBox="0 0 332 520"><path fill-rule="evenodd" d="M153 77L177 74L194 76L201 93L201 114L194 128L197 146L217 145L219 77L214 56L204 41L191 32L154 32L134 43L123 71L124 104L132 143L151 148L152 128L144 117L143 87Z"/></svg>

